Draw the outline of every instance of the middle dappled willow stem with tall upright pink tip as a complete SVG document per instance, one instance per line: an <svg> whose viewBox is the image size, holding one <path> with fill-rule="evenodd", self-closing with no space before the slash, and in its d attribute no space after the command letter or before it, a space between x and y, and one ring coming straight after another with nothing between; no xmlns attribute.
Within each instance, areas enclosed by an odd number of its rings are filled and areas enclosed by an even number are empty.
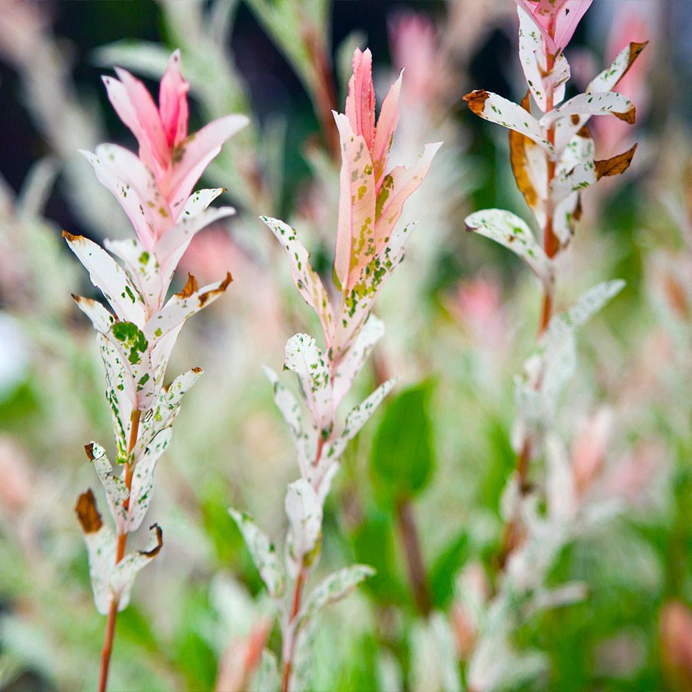
<svg viewBox="0 0 692 692"><path fill-rule="evenodd" d="M380 289L404 257L412 227L397 226L403 204L424 180L441 144L426 145L410 168L388 170L388 153L399 118L401 77L392 85L375 122L369 50L356 50L353 69L346 112L334 113L342 161L334 257L336 300L330 299L313 271L295 230L277 219L262 217L286 251L293 282L317 313L324 341L321 349L312 336L296 334L286 344L284 367L298 376L307 420L298 400L274 372L266 370L275 402L291 430L300 468L300 479L289 484L286 492L289 531L285 570L271 541L255 522L231 510L280 612L284 691L309 686L314 616L372 574L370 567L352 565L327 576L307 598L303 597L320 554L322 509L340 457L394 385L394 379L382 383L349 412L343 427L337 426L338 405L384 332L383 323L371 310Z"/></svg>

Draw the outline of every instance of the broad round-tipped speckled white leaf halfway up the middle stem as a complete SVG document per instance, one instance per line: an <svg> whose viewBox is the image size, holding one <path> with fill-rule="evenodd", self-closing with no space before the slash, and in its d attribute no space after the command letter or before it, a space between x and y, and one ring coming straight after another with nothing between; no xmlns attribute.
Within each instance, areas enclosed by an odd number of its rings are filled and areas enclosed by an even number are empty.
<svg viewBox="0 0 692 692"><path fill-rule="evenodd" d="M327 439L334 426L329 365L309 334L295 334L286 343L284 367L298 375L300 392L309 409L318 435Z"/></svg>

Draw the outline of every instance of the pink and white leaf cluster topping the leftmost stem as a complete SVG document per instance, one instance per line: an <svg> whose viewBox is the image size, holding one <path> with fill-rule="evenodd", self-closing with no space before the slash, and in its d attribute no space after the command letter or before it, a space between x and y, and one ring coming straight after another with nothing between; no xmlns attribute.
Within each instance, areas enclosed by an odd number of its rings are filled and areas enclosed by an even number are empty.
<svg viewBox="0 0 692 692"><path fill-rule="evenodd" d="M104 77L108 98L139 143L139 158L121 147L107 156L87 156L100 181L116 194L140 242L151 251L179 220L194 185L221 151L221 145L246 125L244 116L224 116L188 136L188 82L175 51L161 79L158 107L152 95L127 70ZM153 179L152 179L153 177ZM131 200L127 195L132 192Z"/></svg>

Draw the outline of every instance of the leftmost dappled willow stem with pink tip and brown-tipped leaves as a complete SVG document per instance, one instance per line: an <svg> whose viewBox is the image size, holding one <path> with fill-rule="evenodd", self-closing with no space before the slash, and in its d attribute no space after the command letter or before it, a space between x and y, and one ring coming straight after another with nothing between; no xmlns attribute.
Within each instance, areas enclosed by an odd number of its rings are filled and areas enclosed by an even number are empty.
<svg viewBox="0 0 692 692"><path fill-rule="evenodd" d="M176 266L194 234L235 213L231 207L209 208L223 190L192 193L192 188L221 145L247 123L244 116L226 116L188 134L188 83L180 62L176 51L161 80L158 107L127 71L116 69L118 79L104 77L111 104L139 144L138 156L109 144L94 154L84 152L134 226L136 238L105 243L122 264L91 240L63 233L112 311L75 296L97 332L119 465L114 471L99 444L86 446L106 492L115 534L98 513L91 489L80 495L75 508L89 550L96 608L108 616L101 690L107 683L118 610L129 603L136 574L163 545L156 524L150 527L154 536L145 550L125 554L127 536L145 518L154 491L154 466L170 443L183 394L202 372L195 367L165 387L167 363L185 320L219 298L231 281L228 274L199 288L188 275L183 290L167 300Z"/></svg>

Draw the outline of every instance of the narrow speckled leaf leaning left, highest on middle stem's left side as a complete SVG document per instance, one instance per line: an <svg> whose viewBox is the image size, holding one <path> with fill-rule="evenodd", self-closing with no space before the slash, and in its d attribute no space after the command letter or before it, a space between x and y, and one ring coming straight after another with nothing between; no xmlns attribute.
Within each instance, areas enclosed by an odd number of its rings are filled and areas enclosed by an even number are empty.
<svg viewBox="0 0 692 692"><path fill-rule="evenodd" d="M286 255L288 255L289 262L291 263L293 283L300 291L303 300L307 302L318 318L320 318L325 335L329 334L332 322L334 322L329 296L327 291L325 291L322 280L316 271L313 270L310 264L310 254L298 240L295 228L291 228L291 226L284 224L279 219L272 219L271 217L260 217L260 219L264 221L269 230L281 243L284 251L286 251Z"/></svg>

